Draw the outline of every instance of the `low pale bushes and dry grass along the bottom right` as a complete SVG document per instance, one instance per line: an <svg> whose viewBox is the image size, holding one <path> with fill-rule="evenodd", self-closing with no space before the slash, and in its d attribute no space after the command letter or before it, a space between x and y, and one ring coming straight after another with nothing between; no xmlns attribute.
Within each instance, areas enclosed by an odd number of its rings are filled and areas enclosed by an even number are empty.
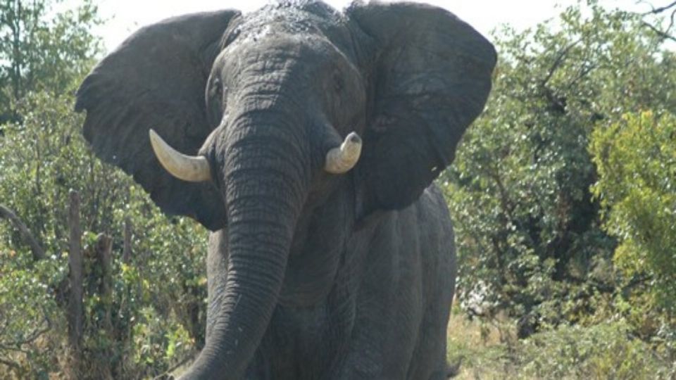
<svg viewBox="0 0 676 380"><path fill-rule="evenodd" d="M518 340L508 319L451 319L449 359L457 379L672 379L676 365L626 322L565 326ZM512 334L512 336L509 336ZM454 337L457 335L457 337ZM477 338L482 336L482 338ZM499 340L496 340L499 336ZM468 344L470 342L470 344Z"/></svg>

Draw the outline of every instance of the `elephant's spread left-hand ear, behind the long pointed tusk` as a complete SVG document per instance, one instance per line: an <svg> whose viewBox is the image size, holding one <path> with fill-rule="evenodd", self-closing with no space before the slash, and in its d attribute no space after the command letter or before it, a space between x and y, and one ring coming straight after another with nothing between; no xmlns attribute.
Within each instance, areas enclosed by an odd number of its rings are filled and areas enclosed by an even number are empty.
<svg viewBox="0 0 676 380"><path fill-rule="evenodd" d="M75 103L75 110L87 110L83 134L99 158L132 175L165 213L187 215L212 230L225 224L218 189L169 175L148 131L155 129L182 153L199 150L214 127L206 116L206 81L236 15L198 13L142 28L96 65Z"/></svg>

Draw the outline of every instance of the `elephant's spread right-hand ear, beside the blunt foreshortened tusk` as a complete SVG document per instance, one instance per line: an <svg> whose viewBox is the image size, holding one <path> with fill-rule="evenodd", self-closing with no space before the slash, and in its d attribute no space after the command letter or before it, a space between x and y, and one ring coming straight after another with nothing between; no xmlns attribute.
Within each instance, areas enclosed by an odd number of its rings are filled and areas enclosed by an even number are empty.
<svg viewBox="0 0 676 380"><path fill-rule="evenodd" d="M370 37L361 65L373 113L358 169L367 207L404 208L453 161L486 103L496 53L441 8L372 2L347 13Z"/></svg>

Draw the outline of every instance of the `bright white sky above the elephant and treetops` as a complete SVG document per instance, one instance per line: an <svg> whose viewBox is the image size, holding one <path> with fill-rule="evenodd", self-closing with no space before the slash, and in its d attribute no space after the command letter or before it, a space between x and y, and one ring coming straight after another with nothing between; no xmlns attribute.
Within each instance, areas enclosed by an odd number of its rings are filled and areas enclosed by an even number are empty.
<svg viewBox="0 0 676 380"><path fill-rule="evenodd" d="M99 14L108 22L96 30L104 37L106 49L114 49L134 30L164 18L199 11L235 8L253 11L272 0L99 0ZM63 6L71 7L77 0L67 0ZM325 0L334 8L342 9L351 0ZM441 6L470 23L483 34L489 34L502 24L518 30L532 27L548 18L555 17L563 8L577 0L426 0L418 1ZM638 0L601 0L608 8L624 10L649 10L649 6L637 4ZM660 1L653 1L660 4Z"/></svg>

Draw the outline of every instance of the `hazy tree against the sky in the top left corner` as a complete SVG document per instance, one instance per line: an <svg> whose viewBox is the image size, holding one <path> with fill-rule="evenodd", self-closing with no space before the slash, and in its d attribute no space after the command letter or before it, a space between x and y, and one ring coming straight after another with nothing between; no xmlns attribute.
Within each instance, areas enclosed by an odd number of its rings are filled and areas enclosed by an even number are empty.
<svg viewBox="0 0 676 380"><path fill-rule="evenodd" d="M20 118L16 103L30 91L72 89L100 52L100 39L90 32L101 23L96 6L86 0L49 19L58 2L0 2L0 124Z"/></svg>

